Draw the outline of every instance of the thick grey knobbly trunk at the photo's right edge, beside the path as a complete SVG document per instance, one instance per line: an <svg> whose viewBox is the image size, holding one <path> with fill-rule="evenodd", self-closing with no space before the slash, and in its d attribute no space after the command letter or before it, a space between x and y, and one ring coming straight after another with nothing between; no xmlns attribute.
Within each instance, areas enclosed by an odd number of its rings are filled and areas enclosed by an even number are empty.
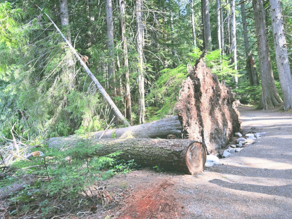
<svg viewBox="0 0 292 219"><path fill-rule="evenodd" d="M281 4L279 0L270 0L276 62L281 83L284 110L292 108L292 79L288 60L287 43L284 33Z"/></svg>

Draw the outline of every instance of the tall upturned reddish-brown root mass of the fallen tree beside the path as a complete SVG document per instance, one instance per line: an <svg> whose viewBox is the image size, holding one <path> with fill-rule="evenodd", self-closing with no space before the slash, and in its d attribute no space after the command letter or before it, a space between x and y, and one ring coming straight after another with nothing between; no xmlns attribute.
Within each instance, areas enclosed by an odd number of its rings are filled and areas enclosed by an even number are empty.
<svg viewBox="0 0 292 219"><path fill-rule="evenodd" d="M204 142L208 154L218 152L240 130L233 93L211 73L202 58L195 66L188 66L188 73L176 105L184 127L183 138Z"/></svg>

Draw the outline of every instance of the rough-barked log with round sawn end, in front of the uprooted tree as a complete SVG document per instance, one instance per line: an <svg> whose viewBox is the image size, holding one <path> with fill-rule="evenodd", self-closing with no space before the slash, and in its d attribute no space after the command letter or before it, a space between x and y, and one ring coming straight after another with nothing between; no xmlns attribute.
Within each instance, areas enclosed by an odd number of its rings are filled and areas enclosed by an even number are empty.
<svg viewBox="0 0 292 219"><path fill-rule="evenodd" d="M159 166L167 170L195 174L204 170L206 149L201 142L187 139L84 139L52 138L49 147L67 148L81 144L98 156L120 151L121 159L134 159L143 166Z"/></svg>

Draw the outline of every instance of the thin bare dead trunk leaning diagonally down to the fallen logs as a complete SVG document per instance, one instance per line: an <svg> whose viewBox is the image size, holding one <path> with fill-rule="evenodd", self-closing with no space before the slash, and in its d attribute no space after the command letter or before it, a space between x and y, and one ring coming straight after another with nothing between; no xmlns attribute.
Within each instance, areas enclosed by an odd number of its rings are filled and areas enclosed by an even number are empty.
<svg viewBox="0 0 292 219"><path fill-rule="evenodd" d="M35 6L38 7L39 10L41 10L42 12L44 12L43 9L41 9L36 4L35 4ZM112 99L109 97L109 95L107 94L107 92L105 91L105 89L101 86L101 84L99 83L99 81L96 79L96 77L92 74L92 72L89 70L89 68L83 62L83 60L81 59L81 57L79 56L79 54L77 53L77 51L73 48L73 46L71 45L71 43L66 39L66 37L64 36L64 34L61 32L61 30L55 24L55 22L53 22L53 20L50 18L49 15L47 15L46 13L44 13L44 14L48 17L48 19L52 22L52 24L55 26L55 28L57 29L57 31L60 33L60 35L62 36L63 40L67 43L67 45L69 46L69 48L72 50L73 54L79 60L81 66L87 72L88 76L92 79L92 81L97 86L97 88L100 91L100 93L103 95L103 97L105 98L105 100L109 103L109 105L112 107L112 110L117 115L117 117L122 121L122 123L124 125L131 126L130 123L127 121L127 119L123 116L123 114L121 113L121 111L118 109L118 107L114 104L114 102L112 101Z"/></svg>

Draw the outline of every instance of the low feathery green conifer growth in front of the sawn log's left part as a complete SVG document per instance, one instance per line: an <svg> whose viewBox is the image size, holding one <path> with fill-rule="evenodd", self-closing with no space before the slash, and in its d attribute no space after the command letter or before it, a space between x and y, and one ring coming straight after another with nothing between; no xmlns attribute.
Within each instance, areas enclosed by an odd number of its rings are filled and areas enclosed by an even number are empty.
<svg viewBox="0 0 292 219"><path fill-rule="evenodd" d="M11 194L9 199L13 206L22 206L10 210L10 214L29 213L38 209L43 218L53 213L68 211L68 208L79 208L97 204L97 199L88 195L90 186L108 179L115 173L128 173L137 168L134 160L119 159L121 152L107 156L95 156L95 147L89 147L86 140L80 140L75 146L64 149L40 147L44 153L41 157L32 157L30 160L18 160L11 169L15 175L7 176L0 181L0 187L11 184L22 175L35 175L39 179L34 185L26 185L24 189ZM90 190L91 191L91 190ZM58 204L68 201L65 209L58 209Z"/></svg>

